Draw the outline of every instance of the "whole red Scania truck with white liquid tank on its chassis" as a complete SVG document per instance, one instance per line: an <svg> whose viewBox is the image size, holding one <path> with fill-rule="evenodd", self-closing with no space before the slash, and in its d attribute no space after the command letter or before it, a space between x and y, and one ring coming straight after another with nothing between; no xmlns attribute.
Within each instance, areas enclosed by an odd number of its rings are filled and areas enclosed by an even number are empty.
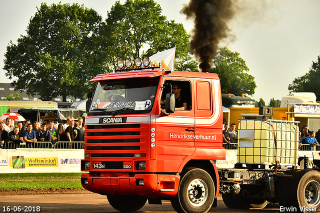
<svg viewBox="0 0 320 213"><path fill-rule="evenodd" d="M169 71L150 66L147 58L143 61L142 66L136 62L136 68L127 68L130 64L119 60L120 71L90 80L97 83L93 94L88 92L81 160L84 188L106 195L119 211L136 211L147 200L161 204L163 199L177 212L204 213L216 206L219 191L232 208L261 208L267 201L279 201L319 210L320 173L307 169L307 157L300 159L306 169L296 169L296 123L240 122L244 129L239 131L239 162L218 169L215 162L224 160L226 151L217 74ZM180 89L185 110L174 108L173 86ZM274 138L286 141L285 148L261 149L277 144ZM257 152L260 158L254 157ZM301 186L300 180L308 186ZM286 195L292 187L301 192Z"/></svg>

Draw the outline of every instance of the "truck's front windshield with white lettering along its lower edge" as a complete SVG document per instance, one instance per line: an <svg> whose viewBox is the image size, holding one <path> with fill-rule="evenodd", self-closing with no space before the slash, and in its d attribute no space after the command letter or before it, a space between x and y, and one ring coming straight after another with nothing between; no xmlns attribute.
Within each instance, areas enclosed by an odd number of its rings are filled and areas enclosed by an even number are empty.
<svg viewBox="0 0 320 213"><path fill-rule="evenodd" d="M152 109L158 82L155 77L98 81L89 112L147 113Z"/></svg>

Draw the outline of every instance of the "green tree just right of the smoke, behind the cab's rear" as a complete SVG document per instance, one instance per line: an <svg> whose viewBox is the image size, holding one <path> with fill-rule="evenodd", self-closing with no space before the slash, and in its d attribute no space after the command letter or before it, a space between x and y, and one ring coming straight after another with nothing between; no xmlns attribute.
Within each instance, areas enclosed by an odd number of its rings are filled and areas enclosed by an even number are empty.
<svg viewBox="0 0 320 213"><path fill-rule="evenodd" d="M256 87L254 77L247 73L249 68L238 52L222 47L214 64L210 72L215 72L220 77L222 93L233 93L239 96L254 93Z"/></svg>

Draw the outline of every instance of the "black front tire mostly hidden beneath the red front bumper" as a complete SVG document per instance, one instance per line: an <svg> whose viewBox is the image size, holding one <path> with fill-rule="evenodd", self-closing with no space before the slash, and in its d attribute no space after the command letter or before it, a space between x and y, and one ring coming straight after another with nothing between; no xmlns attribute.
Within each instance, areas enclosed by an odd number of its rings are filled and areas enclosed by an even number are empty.
<svg viewBox="0 0 320 213"><path fill-rule="evenodd" d="M106 195L110 205L122 212L137 211L143 207L147 198L139 195Z"/></svg>

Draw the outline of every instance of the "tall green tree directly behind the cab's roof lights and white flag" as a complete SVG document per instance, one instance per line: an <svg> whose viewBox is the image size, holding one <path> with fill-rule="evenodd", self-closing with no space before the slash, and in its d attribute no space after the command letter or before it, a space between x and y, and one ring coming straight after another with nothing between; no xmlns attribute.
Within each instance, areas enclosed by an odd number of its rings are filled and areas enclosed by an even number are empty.
<svg viewBox="0 0 320 213"><path fill-rule="evenodd" d="M113 45L108 47L108 65L117 58L151 56L176 46L175 68L197 71L197 62L189 53L189 35L181 23L166 20L161 7L153 0L116 1L108 11ZM144 49L144 50L143 50Z"/></svg>

